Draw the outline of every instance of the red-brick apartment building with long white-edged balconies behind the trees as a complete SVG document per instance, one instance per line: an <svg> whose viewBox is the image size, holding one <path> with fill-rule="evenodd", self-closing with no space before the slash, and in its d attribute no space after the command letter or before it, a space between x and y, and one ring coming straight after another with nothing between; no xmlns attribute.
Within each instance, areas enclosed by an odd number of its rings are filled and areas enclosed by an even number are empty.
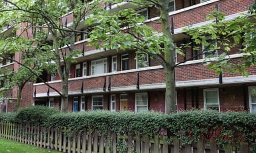
<svg viewBox="0 0 256 153"><path fill-rule="evenodd" d="M253 0L171 0L170 18L174 19L175 45L190 42L190 38L182 33L189 25L200 26L209 21L205 18L216 4L219 10L226 14L226 19L234 19L240 13L246 13ZM129 3L113 4L109 11L131 7ZM146 19L154 20L159 10L155 7L139 8L133 6ZM66 17L64 17L66 18ZM72 22L72 14L67 15L68 23ZM157 32L161 33L161 25L150 22ZM6 29L6 33L9 32ZM75 49L86 45L87 36L77 34ZM241 46L231 49L231 58L239 61L237 54ZM193 50L186 50L186 56L174 55L177 62L194 56ZM216 52L216 54L218 54ZM19 53L12 55L14 59ZM147 66L140 65L135 60L136 53L131 50L116 52L111 50L95 50L86 46L83 56L77 58L77 63L71 65L69 79L68 108L70 112L94 109L110 111L131 110L135 112L154 110L166 112L165 101L165 70L155 60L147 57ZM218 111L247 110L256 111L256 66L248 69L249 77L241 74L222 73L222 81L214 71L202 65L205 56L202 54L193 60L178 65L175 68L177 91L177 110L192 108L212 108ZM6 66L17 69L14 62L2 60L1 68ZM62 90L58 75L43 74L45 81L59 91ZM7 111L12 111L17 97L17 87L6 93ZM10 103L10 100L13 103ZM48 105L61 107L61 98L54 90L43 83L27 83L22 91L20 107L26 105Z"/></svg>

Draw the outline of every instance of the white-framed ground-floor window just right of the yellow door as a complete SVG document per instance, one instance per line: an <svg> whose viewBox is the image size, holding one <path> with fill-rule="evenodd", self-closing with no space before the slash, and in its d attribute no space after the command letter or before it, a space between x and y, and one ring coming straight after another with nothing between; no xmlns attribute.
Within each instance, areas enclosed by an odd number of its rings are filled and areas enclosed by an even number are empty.
<svg viewBox="0 0 256 153"><path fill-rule="evenodd" d="M148 110L147 93L135 94L135 111L143 112Z"/></svg>

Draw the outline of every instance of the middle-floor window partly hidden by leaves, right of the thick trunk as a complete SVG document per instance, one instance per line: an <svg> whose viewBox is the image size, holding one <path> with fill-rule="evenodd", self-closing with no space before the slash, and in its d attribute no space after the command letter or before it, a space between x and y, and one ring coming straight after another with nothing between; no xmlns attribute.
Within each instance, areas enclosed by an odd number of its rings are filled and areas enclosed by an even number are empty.
<svg viewBox="0 0 256 153"><path fill-rule="evenodd" d="M208 45L202 45L202 58L217 56L217 50L213 49L217 46L216 40L212 40L211 37L207 37L206 41Z"/></svg>

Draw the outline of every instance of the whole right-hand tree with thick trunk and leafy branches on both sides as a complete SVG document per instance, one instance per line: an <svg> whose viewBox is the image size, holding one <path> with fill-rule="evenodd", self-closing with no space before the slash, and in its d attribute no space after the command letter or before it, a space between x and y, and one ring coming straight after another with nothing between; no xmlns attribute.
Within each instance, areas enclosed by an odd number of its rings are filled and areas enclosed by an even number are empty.
<svg viewBox="0 0 256 153"><path fill-rule="evenodd" d="M124 2L124 1L109 1L109 2ZM147 53L151 58L154 58L165 69L166 73L166 108L167 113L175 112L175 66L181 64L182 61L175 64L173 60L173 54L178 52L184 55L184 49L190 47L190 44L184 44L179 48L175 48L173 44L173 38L170 29L170 17L169 17L169 1L163 0L128 0L133 5L140 7L154 6L160 10L160 18L158 22L161 23L162 33L158 34L151 27L146 25L145 18L142 15L136 13L133 9L122 9L117 13L109 13L108 10L100 9L94 12L94 16L85 23L91 25L96 23L93 31L90 34L91 42L97 49L116 49L126 50L133 49L140 52ZM215 69L217 74L220 74L224 69L228 72L241 72L244 76L247 76L246 67L253 66L255 64L255 37L251 39L251 34L255 36L255 23L251 22L248 15L237 18L234 21L223 22L223 13L214 10L209 15L210 18L217 18L219 22L214 22L209 25L205 25L198 28L189 28L185 30L195 42L194 50L198 50L196 56L205 54L202 45L207 45L212 50L223 50L223 53L215 58L210 58L205 61L205 65L208 65L210 69ZM223 29L224 27L224 29ZM241 36L241 34L243 34ZM211 35L212 40L215 42L209 43L206 41L206 36ZM223 37L226 36L226 37ZM101 41L98 41L98 40ZM231 41L231 39L233 41ZM244 40L244 45L247 44L247 48L240 50L243 54L244 62L240 64L231 62L232 59L227 57L227 52L230 48L238 45L238 43ZM254 44L253 44L254 42ZM199 53L199 51L201 53ZM137 57L140 58L140 57ZM191 59L190 59L191 60Z"/></svg>

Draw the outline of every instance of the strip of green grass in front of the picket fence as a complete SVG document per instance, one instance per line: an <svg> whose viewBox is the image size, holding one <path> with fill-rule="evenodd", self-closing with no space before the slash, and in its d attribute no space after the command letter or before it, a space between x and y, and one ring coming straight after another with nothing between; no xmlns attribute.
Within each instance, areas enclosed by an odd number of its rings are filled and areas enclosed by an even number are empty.
<svg viewBox="0 0 256 153"><path fill-rule="evenodd" d="M12 140L0 138L1 153L60 153L59 151L51 151L44 148L28 145Z"/></svg>

